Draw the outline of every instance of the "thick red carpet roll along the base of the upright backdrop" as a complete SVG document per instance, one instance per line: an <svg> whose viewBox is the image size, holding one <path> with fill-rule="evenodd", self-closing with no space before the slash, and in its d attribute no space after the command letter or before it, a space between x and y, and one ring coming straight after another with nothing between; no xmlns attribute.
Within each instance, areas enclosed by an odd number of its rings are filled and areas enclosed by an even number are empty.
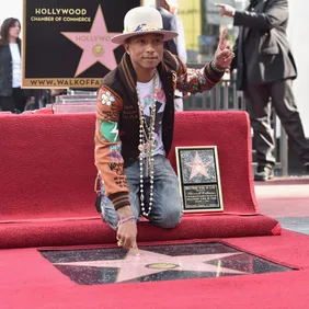
<svg viewBox="0 0 309 309"><path fill-rule="evenodd" d="M138 241L191 240L230 236L272 236L281 232L276 220L263 217L222 215L186 216L175 229L164 230L140 222ZM266 233L266 231L268 231ZM115 243L116 234L100 219L32 221L0 225L1 248ZM3 237L2 237L3 236Z"/></svg>

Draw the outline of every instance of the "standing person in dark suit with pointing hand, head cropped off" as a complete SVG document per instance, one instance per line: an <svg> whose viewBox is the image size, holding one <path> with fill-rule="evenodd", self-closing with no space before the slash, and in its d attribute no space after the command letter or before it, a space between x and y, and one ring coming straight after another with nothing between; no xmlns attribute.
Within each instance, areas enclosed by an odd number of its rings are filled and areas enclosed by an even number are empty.
<svg viewBox="0 0 309 309"><path fill-rule="evenodd" d="M274 175L272 107L309 172L309 142L291 90L297 69L286 37L288 1L251 0L243 12L224 3L216 5L221 15L233 18L233 25L240 27L231 69L237 68L237 85L244 93L254 131L254 180L267 181Z"/></svg>

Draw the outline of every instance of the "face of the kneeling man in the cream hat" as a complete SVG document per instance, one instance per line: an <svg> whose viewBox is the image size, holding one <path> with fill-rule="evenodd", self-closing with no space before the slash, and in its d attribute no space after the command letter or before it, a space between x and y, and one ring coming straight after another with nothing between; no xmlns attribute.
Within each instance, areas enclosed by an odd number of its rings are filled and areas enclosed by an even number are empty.
<svg viewBox="0 0 309 309"><path fill-rule="evenodd" d="M163 59L162 34L134 36L125 44L131 61L144 69L154 69Z"/></svg>

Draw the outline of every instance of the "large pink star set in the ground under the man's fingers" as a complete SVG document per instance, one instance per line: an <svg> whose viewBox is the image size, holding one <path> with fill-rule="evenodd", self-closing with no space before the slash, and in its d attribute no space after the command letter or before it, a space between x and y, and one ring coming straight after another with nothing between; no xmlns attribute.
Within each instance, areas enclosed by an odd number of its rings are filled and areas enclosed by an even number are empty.
<svg viewBox="0 0 309 309"><path fill-rule="evenodd" d="M135 255L128 252L123 260L101 260L101 261L80 261L80 262L65 262L55 263L55 265L67 266L88 266L88 267L113 267L118 268L115 283L133 281L142 276L149 276L167 271L188 271L198 273L216 273L218 276L221 273L244 275L245 272L218 267L217 265L208 264L207 262L214 260L221 260L224 258L233 256L239 253L215 253L215 254L199 254L199 255L180 255L170 256L167 254L156 253L151 251L140 250L140 255ZM218 273L219 272L219 273Z"/></svg>

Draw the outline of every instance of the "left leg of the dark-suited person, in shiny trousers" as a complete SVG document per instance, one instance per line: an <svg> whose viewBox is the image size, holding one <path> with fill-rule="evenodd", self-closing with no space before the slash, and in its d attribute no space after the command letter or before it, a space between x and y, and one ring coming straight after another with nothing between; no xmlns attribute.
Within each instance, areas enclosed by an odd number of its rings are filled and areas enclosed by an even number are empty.
<svg viewBox="0 0 309 309"><path fill-rule="evenodd" d="M255 181L267 181L274 175L276 158L274 156L275 140L271 125L272 103L267 84L248 84L243 91L251 126L253 144L256 150L258 172Z"/></svg>

